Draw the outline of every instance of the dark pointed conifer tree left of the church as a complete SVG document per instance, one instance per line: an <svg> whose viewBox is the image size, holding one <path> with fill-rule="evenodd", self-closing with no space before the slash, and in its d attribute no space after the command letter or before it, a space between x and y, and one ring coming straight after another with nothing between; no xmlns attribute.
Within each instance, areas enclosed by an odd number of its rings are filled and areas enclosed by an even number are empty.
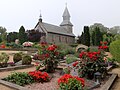
<svg viewBox="0 0 120 90"><path fill-rule="evenodd" d="M22 44L25 41L27 41L27 34L25 33L25 28L21 26L19 29L19 42Z"/></svg>

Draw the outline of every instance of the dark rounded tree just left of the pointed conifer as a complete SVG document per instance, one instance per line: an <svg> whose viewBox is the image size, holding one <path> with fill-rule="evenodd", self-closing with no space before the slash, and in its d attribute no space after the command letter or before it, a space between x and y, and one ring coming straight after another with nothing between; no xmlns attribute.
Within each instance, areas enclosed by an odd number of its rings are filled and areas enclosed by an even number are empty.
<svg viewBox="0 0 120 90"><path fill-rule="evenodd" d="M19 33L18 32L10 32L7 35L7 42L15 42L16 39L18 39Z"/></svg>

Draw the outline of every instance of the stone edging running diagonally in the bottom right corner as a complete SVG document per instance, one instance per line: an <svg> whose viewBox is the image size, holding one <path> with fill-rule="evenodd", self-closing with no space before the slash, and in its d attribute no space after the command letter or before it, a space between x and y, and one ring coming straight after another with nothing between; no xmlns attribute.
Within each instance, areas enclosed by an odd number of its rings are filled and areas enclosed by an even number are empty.
<svg viewBox="0 0 120 90"><path fill-rule="evenodd" d="M102 86L101 90L110 90L117 77L118 74L113 73L108 81Z"/></svg>

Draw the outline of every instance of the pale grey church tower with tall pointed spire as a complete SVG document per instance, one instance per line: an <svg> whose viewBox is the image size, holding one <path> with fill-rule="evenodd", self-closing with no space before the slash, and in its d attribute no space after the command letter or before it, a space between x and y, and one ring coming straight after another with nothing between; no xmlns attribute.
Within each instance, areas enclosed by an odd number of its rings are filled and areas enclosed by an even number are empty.
<svg viewBox="0 0 120 90"><path fill-rule="evenodd" d="M68 9L67 9L67 6L66 6L66 8L65 8L65 10L64 10L64 13L63 13L63 16L62 16L62 17L63 17L63 21L62 21L62 23L60 24L60 26L66 28L67 33L73 33L73 32L72 32L72 27L73 27L73 25L72 25L72 23L70 22L70 14L69 14L69 11L68 11Z"/></svg>

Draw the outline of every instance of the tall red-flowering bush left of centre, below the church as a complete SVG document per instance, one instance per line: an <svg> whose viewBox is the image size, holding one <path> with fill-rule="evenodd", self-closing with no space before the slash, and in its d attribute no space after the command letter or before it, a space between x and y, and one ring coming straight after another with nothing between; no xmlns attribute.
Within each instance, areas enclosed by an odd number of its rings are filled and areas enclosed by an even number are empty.
<svg viewBox="0 0 120 90"><path fill-rule="evenodd" d="M59 52L57 51L56 45L47 45L46 43L41 43L39 48L39 54L43 55L43 64L47 72L54 72L58 64Z"/></svg>

